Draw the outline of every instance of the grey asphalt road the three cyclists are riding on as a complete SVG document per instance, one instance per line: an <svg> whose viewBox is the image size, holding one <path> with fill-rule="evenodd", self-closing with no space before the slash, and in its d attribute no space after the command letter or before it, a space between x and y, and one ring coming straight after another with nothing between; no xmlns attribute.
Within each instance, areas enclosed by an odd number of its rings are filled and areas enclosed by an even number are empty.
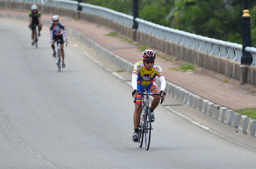
<svg viewBox="0 0 256 169"><path fill-rule="evenodd" d="M70 45L59 73L44 27L0 19L1 169L241 169L256 153L159 106L148 151L132 141L131 87ZM187 110L189 111L189 110Z"/></svg>

